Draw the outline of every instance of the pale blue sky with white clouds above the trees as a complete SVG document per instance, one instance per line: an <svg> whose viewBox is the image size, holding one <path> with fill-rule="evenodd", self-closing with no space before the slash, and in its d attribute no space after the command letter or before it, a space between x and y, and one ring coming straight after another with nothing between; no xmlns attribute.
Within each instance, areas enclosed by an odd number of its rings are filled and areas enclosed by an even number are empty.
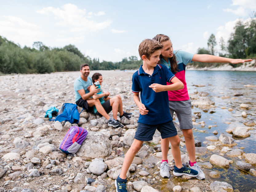
<svg viewBox="0 0 256 192"><path fill-rule="evenodd" d="M227 42L235 23L254 11L256 0L0 0L0 35L21 47L72 44L100 62L119 62L139 58L139 43L157 34L190 53L207 48L211 34Z"/></svg>

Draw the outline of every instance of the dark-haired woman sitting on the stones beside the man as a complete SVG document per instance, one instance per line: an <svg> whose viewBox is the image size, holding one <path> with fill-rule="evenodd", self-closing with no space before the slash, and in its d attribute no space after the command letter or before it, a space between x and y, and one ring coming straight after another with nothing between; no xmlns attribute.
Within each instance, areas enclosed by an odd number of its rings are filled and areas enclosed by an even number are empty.
<svg viewBox="0 0 256 192"><path fill-rule="evenodd" d="M95 84L94 82L99 82L100 83L100 86L102 85L102 82L103 82L103 79L102 79L102 74L100 73L94 73L93 76L92 76L92 82L93 82L93 85L90 86L90 91L93 91L95 89ZM115 120L117 120L117 112L119 112L119 117L126 117L128 119L131 118L131 113L126 113L123 111L123 103L122 103L122 98L120 95L116 95L112 98L110 98L110 93L108 91L106 92L103 92L102 89L101 89L101 94L97 94L95 93L92 98L94 99L99 99L103 108L105 109L106 113L108 114L111 110L113 110L113 118ZM96 107L94 106L94 113L95 114L99 114ZM99 114L101 115L101 114ZM111 125L112 126L112 125ZM119 126L122 127L122 124L120 124Z"/></svg>

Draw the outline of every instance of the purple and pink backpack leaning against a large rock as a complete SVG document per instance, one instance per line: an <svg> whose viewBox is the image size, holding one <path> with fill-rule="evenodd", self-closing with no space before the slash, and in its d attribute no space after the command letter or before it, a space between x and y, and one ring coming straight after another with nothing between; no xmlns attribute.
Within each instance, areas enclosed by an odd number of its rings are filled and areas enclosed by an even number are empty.
<svg viewBox="0 0 256 192"><path fill-rule="evenodd" d="M60 150L66 154L74 155L81 147L82 142L85 140L87 134L88 132L84 128L71 126L62 142L60 142Z"/></svg>

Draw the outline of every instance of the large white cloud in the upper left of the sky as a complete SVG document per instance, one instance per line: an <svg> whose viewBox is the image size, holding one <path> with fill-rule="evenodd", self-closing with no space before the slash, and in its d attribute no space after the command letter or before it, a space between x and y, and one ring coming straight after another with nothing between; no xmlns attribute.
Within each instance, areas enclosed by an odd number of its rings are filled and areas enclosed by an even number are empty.
<svg viewBox="0 0 256 192"><path fill-rule="evenodd" d="M56 23L57 25L74 26L75 28L71 29L71 32L102 30L112 23L111 20L106 20L104 22L95 22L93 20L89 20L89 17L86 17L85 9L79 9L76 5L71 3L65 4L62 6L62 8L44 7L36 12L45 15L53 14L55 16L54 18L58 20ZM103 14L105 14L105 12L100 11L96 15ZM92 12L89 12L88 15L92 15Z"/></svg>

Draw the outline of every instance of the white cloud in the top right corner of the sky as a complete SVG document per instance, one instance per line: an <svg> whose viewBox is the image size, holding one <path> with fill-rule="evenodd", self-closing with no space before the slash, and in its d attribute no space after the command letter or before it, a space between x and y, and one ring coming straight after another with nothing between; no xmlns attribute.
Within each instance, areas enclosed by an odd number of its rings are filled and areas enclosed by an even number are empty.
<svg viewBox="0 0 256 192"><path fill-rule="evenodd" d="M255 0L232 0L231 6L238 6L237 9L223 9L223 11L234 13L239 16L248 16L256 9Z"/></svg>

